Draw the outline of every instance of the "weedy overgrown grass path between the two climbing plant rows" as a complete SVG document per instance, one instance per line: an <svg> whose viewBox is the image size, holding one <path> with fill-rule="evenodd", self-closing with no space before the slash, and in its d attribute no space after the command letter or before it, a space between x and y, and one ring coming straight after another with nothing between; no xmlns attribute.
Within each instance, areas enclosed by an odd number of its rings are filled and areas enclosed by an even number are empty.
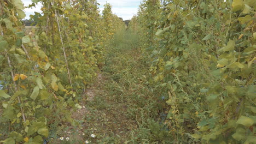
<svg viewBox="0 0 256 144"><path fill-rule="evenodd" d="M83 108L72 113L80 127L65 128L66 135L75 139L70 143L151 143L162 110L136 39L121 31L107 51L106 64L79 101Z"/></svg>

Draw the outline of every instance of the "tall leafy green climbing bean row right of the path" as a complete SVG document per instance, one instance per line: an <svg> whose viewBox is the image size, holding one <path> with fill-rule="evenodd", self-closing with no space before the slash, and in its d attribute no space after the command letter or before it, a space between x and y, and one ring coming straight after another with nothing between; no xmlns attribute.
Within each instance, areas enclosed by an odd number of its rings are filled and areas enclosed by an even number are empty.
<svg viewBox="0 0 256 144"><path fill-rule="evenodd" d="M143 1L131 23L149 82L167 99L172 143L255 143L255 8L253 0Z"/></svg>

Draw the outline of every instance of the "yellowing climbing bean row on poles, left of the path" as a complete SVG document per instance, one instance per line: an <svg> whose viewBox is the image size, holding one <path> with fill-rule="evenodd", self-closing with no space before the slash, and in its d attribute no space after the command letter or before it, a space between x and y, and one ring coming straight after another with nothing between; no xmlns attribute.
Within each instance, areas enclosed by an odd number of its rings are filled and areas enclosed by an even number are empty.
<svg viewBox="0 0 256 144"><path fill-rule="evenodd" d="M0 127L9 127L0 135L7 137L3 143L42 143L49 124L77 125L67 108L81 108L81 95L103 64L104 45L124 26L109 4L101 16L94 0L34 0L29 7L36 3L43 15L30 16L37 26L29 33L21 0L0 3L0 115L6 122Z"/></svg>

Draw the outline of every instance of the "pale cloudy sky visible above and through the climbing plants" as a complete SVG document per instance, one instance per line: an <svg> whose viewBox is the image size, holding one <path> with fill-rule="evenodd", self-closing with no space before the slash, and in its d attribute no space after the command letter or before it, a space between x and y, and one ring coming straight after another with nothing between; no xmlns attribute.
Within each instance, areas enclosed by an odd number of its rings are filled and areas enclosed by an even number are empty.
<svg viewBox="0 0 256 144"><path fill-rule="evenodd" d="M31 0L22 0L25 6L28 6L31 4ZM116 14L119 17L122 17L123 20L129 20L132 18L133 15L137 14L139 4L141 3L141 0L97 0L98 3L100 3L100 10L102 12L103 5L106 4L106 2L110 3L112 5L112 11L114 14ZM26 17L25 19L30 19L30 15L34 14L34 11L40 13L40 8L42 5L38 3L36 8L32 9L25 9Z"/></svg>

